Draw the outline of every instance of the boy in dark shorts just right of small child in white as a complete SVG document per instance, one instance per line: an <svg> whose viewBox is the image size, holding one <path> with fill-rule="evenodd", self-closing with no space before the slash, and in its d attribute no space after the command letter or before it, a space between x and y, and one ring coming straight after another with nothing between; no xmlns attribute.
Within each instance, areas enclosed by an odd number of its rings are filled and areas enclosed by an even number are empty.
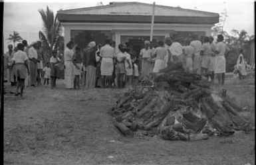
<svg viewBox="0 0 256 165"><path fill-rule="evenodd" d="M57 50L53 50L53 56L50 58L51 64L51 88L56 87L56 79L58 76L59 62L61 60L57 58Z"/></svg>

